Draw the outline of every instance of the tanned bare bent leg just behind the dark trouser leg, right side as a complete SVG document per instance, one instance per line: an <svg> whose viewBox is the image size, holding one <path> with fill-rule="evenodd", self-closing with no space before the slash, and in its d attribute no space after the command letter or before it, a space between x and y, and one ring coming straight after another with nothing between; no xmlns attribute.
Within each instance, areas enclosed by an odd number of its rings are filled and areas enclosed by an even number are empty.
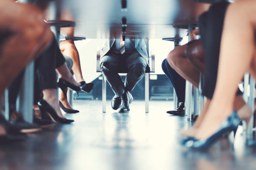
<svg viewBox="0 0 256 170"><path fill-rule="evenodd" d="M168 54L167 61L169 65L179 73L179 75L198 88L200 73L187 60L185 55L186 49L187 45L176 47Z"/></svg>

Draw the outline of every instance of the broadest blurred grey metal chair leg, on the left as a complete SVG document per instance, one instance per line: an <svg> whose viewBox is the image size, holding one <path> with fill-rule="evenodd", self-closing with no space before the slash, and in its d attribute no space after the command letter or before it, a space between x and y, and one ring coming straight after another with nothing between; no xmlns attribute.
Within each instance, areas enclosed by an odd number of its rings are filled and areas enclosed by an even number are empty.
<svg viewBox="0 0 256 170"><path fill-rule="evenodd" d="M27 67L18 97L18 112L23 114L24 120L33 122L33 98L34 98L34 62Z"/></svg>

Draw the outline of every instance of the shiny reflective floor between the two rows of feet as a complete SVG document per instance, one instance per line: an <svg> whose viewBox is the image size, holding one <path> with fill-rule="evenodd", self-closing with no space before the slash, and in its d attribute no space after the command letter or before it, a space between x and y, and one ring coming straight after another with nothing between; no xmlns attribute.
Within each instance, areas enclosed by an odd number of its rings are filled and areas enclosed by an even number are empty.
<svg viewBox="0 0 256 170"><path fill-rule="evenodd" d="M223 138L206 151L179 145L187 117L170 116L171 101L134 101L130 113L101 101L75 100L80 113L71 125L57 125L25 141L0 145L0 170L256 170L256 147L244 147L244 134Z"/></svg>

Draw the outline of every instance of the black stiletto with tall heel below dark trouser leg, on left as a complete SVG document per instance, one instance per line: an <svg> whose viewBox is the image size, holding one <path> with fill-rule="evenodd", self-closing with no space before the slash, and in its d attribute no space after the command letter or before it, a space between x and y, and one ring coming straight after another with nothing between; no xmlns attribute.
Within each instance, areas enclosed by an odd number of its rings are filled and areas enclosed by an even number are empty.
<svg viewBox="0 0 256 170"><path fill-rule="evenodd" d="M74 122L74 120L59 117L59 115L57 115L54 108L51 107L51 105L49 105L49 103L46 102L46 100L44 99L39 101L37 104L39 106L43 119L49 120L49 118L51 118L52 121L58 122L61 124L68 124L68 123Z"/></svg>

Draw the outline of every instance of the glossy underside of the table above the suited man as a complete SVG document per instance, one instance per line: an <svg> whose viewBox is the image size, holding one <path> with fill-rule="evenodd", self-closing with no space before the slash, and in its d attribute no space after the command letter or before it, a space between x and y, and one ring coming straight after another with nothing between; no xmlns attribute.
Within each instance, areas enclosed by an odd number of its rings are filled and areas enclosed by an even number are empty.
<svg viewBox="0 0 256 170"><path fill-rule="evenodd" d="M77 23L75 36L86 38L119 37L123 17L127 37L174 37L174 23L195 23L209 7L192 0L128 0L127 11L122 12L121 0L57 0L57 4L62 20ZM179 30L178 34L184 37L186 32Z"/></svg>

